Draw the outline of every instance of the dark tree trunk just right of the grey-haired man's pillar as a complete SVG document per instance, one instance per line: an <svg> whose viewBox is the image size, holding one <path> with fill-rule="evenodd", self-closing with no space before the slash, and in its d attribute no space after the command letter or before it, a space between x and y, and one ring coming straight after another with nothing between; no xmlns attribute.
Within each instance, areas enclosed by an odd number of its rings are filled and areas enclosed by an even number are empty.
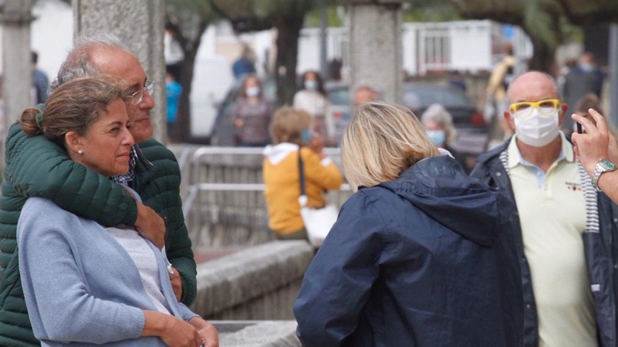
<svg viewBox="0 0 618 347"><path fill-rule="evenodd" d="M183 87L181 94L178 113L176 116L176 134L174 134L174 142L186 142L191 137L191 85L193 82L193 73L195 69L195 59L198 49L202 41L202 34L206 29L205 23L200 23L198 36L192 40L189 47L183 47L185 59L181 69L181 77L179 83Z"/></svg>

